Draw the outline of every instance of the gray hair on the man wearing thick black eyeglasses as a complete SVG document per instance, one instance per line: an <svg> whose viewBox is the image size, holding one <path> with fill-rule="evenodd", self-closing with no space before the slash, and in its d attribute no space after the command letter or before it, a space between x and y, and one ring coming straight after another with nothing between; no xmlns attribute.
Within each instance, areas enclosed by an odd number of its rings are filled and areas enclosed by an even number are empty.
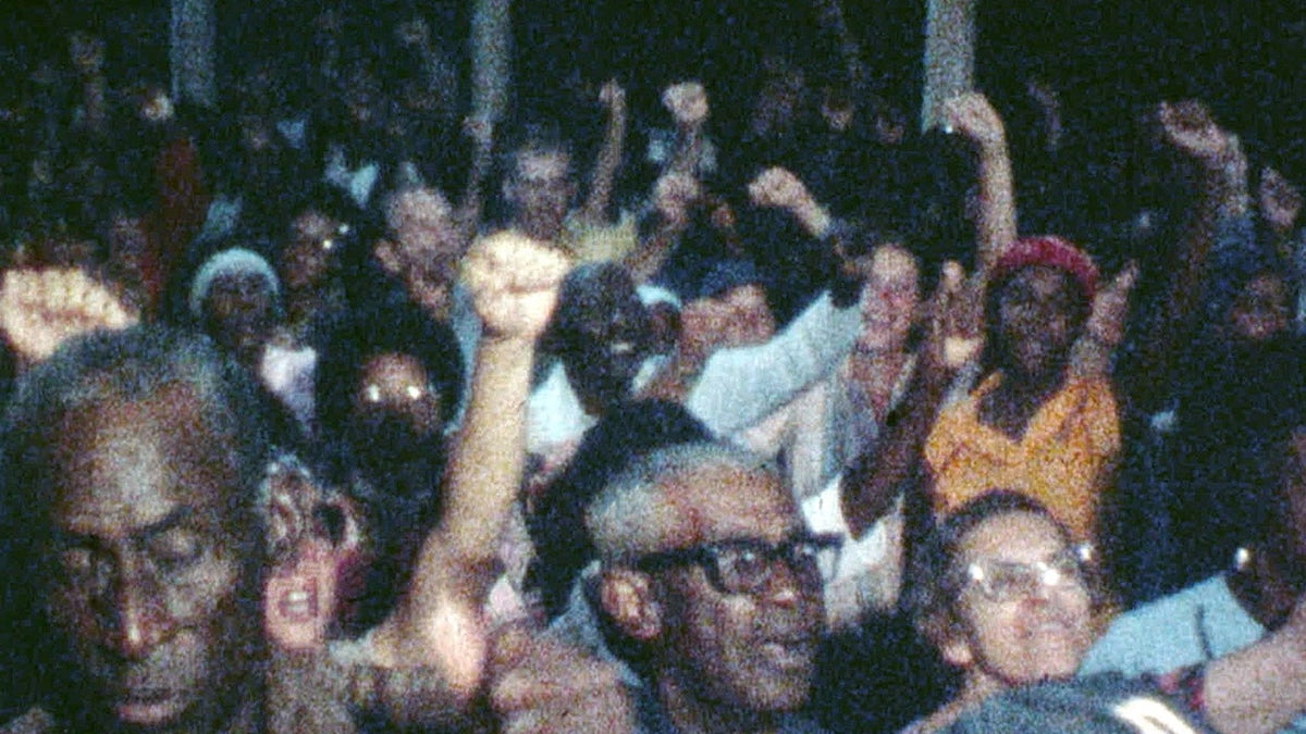
<svg viewBox="0 0 1306 734"><path fill-rule="evenodd" d="M585 513L599 559L613 563L666 550L667 535L683 517L663 487L667 479L708 466L776 470L767 458L721 441L677 444L639 457L603 486Z"/></svg>

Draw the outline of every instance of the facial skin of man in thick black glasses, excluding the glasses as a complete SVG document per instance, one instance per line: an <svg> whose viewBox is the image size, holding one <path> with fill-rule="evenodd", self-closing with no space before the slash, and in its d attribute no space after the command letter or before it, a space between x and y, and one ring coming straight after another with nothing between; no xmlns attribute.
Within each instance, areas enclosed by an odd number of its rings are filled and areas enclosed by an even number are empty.
<svg viewBox="0 0 1306 734"><path fill-rule="evenodd" d="M793 499L774 474L707 466L669 485L687 505L682 516L692 519L678 547L780 542L802 530ZM722 593L699 566L670 568L658 579L663 675L684 696L757 712L788 710L807 700L824 620L819 585L808 588L778 560L771 584L756 594Z"/></svg>

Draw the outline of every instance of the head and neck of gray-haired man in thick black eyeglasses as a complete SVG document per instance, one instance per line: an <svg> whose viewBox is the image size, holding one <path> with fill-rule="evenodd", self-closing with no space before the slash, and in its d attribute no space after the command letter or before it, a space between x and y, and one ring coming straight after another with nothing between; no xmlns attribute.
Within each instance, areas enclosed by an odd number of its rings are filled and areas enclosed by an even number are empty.
<svg viewBox="0 0 1306 734"><path fill-rule="evenodd" d="M718 444L662 449L609 483L586 524L598 599L640 673L639 731L820 731L795 712L837 542L806 530L773 469Z"/></svg>

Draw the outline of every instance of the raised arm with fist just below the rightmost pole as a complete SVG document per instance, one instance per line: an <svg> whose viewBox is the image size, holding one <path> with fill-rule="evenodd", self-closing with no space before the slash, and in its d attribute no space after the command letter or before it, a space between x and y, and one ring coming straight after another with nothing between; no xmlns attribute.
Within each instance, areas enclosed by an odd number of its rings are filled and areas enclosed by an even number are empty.
<svg viewBox="0 0 1306 734"><path fill-rule="evenodd" d="M981 276L987 278L1002 251L1016 240L1016 193L1007 150L1007 131L989 98L978 91L953 97L943 107L944 129L964 136L980 155L980 217L976 246Z"/></svg>

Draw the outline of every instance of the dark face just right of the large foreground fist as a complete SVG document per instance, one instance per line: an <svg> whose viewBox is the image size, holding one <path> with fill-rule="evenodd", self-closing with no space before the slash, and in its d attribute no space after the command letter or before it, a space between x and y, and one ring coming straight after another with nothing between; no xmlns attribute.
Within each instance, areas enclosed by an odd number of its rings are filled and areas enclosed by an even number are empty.
<svg viewBox="0 0 1306 734"><path fill-rule="evenodd" d="M568 293L559 310L572 315L577 332L563 355L572 385L605 406L626 398L652 340L648 311L629 276L603 270L575 294Z"/></svg>

